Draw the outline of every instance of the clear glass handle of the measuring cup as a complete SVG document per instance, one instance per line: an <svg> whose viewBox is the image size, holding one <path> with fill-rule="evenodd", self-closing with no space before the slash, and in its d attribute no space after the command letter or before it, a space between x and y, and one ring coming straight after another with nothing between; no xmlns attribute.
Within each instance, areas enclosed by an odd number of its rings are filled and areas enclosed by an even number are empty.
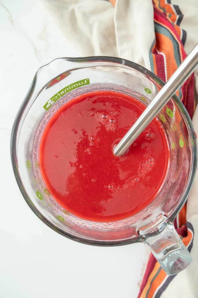
<svg viewBox="0 0 198 298"><path fill-rule="evenodd" d="M152 233L145 235L144 242L168 275L179 273L192 261L172 223L161 224Z"/></svg>

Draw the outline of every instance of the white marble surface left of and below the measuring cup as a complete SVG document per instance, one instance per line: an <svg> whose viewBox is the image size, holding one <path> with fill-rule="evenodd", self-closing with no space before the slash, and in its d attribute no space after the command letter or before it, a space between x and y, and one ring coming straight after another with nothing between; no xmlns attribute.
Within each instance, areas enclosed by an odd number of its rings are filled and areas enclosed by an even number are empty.
<svg viewBox="0 0 198 298"><path fill-rule="evenodd" d="M54 58L80 55L41 2L0 1L0 298L135 298L145 246L104 248L64 238L34 215L12 172L12 124L35 72Z"/></svg>

